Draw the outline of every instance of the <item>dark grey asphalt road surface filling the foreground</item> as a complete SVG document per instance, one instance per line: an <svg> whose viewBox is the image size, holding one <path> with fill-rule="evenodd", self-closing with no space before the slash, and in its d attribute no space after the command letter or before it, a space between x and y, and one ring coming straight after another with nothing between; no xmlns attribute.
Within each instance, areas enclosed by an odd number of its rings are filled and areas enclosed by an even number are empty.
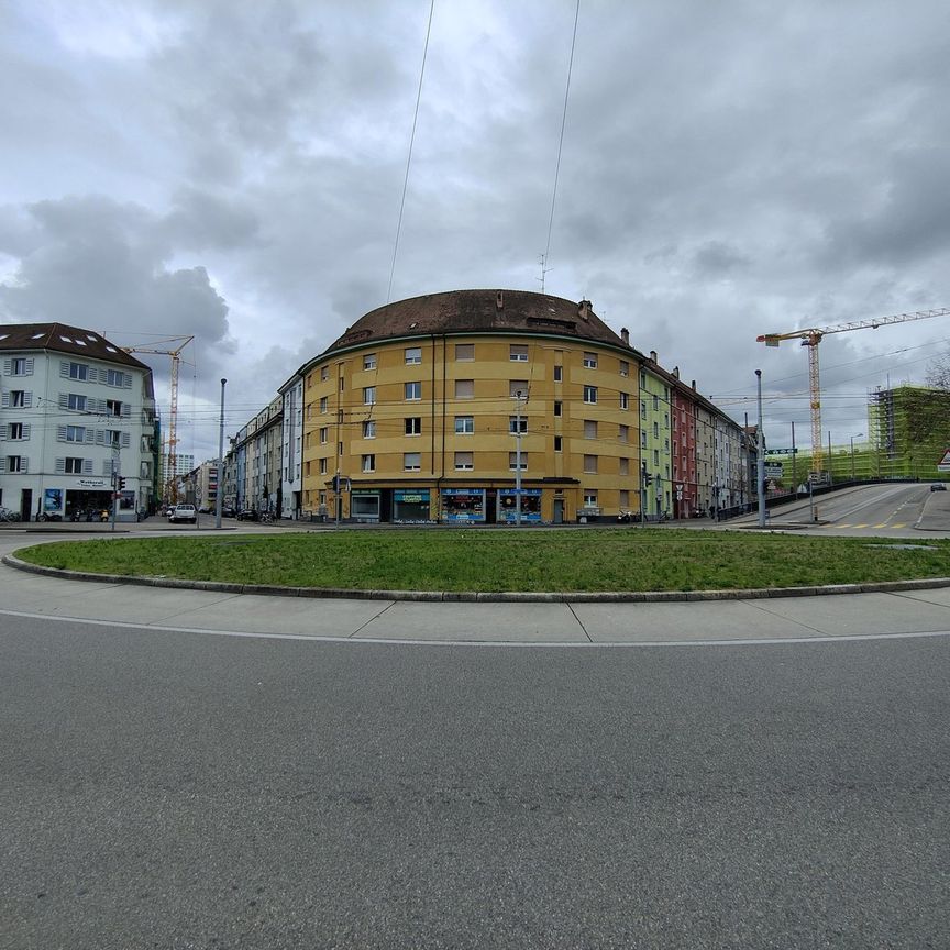
<svg viewBox="0 0 950 950"><path fill-rule="evenodd" d="M0 619L0 947L943 948L950 638Z"/></svg>

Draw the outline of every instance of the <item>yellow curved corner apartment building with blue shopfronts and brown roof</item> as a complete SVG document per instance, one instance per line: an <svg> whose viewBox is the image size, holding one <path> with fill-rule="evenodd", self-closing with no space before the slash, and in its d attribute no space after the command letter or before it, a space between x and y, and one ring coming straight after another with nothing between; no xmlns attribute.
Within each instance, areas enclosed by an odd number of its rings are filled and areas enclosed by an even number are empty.
<svg viewBox="0 0 950 950"><path fill-rule="evenodd" d="M373 310L301 367L303 509L512 522L520 460L523 522L639 510L642 361L586 300L459 290Z"/></svg>

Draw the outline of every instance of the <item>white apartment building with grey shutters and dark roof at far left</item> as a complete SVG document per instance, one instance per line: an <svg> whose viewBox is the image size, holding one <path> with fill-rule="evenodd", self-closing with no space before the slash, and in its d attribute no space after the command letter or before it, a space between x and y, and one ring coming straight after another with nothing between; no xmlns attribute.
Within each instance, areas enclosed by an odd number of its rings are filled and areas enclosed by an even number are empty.
<svg viewBox="0 0 950 950"><path fill-rule="evenodd" d="M144 363L90 330L0 325L0 505L68 519L111 510L118 489L119 517L134 519L153 491L154 438Z"/></svg>

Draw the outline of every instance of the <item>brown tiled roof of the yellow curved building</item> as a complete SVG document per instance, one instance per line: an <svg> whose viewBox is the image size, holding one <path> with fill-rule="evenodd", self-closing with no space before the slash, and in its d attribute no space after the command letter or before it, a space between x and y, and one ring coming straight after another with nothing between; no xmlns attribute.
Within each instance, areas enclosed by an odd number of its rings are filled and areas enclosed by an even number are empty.
<svg viewBox="0 0 950 950"><path fill-rule="evenodd" d="M479 332L553 333L630 349L593 311L589 301L575 303L528 290L450 290L371 310L323 355L395 336Z"/></svg>

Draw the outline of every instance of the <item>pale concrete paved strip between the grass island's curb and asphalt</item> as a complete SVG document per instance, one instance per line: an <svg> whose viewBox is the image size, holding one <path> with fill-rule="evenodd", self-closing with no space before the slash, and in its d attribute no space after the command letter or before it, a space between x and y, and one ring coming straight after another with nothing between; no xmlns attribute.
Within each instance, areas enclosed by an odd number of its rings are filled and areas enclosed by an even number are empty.
<svg viewBox="0 0 950 950"><path fill-rule="evenodd" d="M30 540L35 540L31 538ZM0 554L24 537L0 539ZM239 637L621 645L950 634L950 587L678 603L313 599L69 581L0 565L4 612Z"/></svg>

